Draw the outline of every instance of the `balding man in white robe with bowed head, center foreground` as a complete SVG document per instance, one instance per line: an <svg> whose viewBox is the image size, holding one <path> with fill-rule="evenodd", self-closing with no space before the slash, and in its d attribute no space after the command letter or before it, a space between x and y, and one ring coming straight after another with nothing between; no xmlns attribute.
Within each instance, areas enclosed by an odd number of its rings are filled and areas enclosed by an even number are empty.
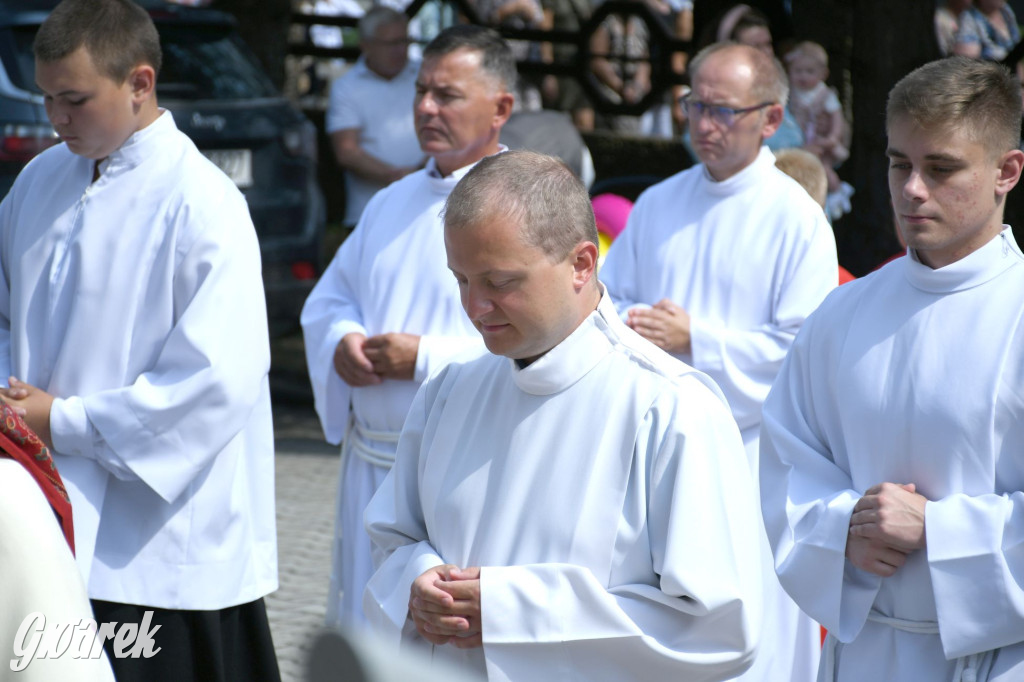
<svg viewBox="0 0 1024 682"><path fill-rule="evenodd" d="M367 509L368 617L492 681L741 672L767 566L718 388L618 319L589 197L557 160L480 162L444 221L493 354L417 394Z"/></svg>

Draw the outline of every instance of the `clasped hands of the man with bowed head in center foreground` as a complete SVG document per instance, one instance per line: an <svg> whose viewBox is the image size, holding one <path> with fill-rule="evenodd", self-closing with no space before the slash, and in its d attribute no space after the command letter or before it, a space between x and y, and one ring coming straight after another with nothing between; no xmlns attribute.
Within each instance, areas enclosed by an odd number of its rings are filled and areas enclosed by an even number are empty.
<svg viewBox="0 0 1024 682"><path fill-rule="evenodd" d="M426 570L413 581L409 615L417 632L432 644L482 646L480 568L446 563Z"/></svg>

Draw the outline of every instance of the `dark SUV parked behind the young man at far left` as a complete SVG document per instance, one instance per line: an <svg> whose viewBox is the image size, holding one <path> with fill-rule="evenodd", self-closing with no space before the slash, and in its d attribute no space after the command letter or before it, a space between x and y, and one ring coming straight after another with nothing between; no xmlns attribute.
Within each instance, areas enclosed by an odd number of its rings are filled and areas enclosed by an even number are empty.
<svg viewBox="0 0 1024 682"><path fill-rule="evenodd" d="M0 196L58 141L35 83L32 41L57 0L0 0ZM295 329L323 266L316 131L261 70L228 14L142 0L160 32L160 105L245 195L263 253L271 336Z"/></svg>

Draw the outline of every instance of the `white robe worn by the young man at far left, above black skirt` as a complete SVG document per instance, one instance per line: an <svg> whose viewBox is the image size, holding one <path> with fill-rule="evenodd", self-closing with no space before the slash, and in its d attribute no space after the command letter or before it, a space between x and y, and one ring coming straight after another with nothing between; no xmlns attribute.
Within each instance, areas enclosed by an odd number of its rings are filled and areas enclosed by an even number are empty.
<svg viewBox="0 0 1024 682"><path fill-rule="evenodd" d="M278 556L266 307L245 198L169 112L95 180L94 168L57 145L0 204L0 377L57 398L54 460L92 598L253 601L276 589Z"/></svg>

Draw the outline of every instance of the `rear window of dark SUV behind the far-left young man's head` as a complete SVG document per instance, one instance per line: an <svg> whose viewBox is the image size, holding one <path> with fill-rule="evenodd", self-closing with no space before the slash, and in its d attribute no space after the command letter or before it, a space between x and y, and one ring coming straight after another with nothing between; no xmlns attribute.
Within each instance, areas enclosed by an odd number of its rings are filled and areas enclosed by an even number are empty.
<svg viewBox="0 0 1024 682"><path fill-rule="evenodd" d="M38 27L12 27L0 40L11 82L39 92L32 41ZM256 56L237 32L221 26L158 24L164 65L157 96L167 99L252 99L278 96Z"/></svg>

